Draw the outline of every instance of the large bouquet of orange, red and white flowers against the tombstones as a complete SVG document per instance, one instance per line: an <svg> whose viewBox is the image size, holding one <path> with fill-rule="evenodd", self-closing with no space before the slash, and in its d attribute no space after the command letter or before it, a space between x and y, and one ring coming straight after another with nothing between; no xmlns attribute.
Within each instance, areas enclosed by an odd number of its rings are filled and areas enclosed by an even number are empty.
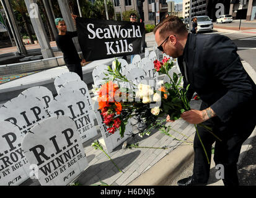
<svg viewBox="0 0 256 198"><path fill-rule="evenodd" d="M121 74L121 64L117 59L113 61L112 68L108 66L108 74L105 74L108 78L106 83L100 87L97 99L101 114L104 116L104 123L108 126L108 132L114 133L119 129L120 135L123 137L128 119L139 117L147 126L141 133L146 134L152 129L162 127L166 122L166 119L159 120L157 118L169 114L171 120L177 120L180 118L180 114L190 110L186 97L189 85L184 89L181 86L182 76L175 72L170 77L169 71L173 66L174 63L170 61L170 58L164 57L161 62L154 61L156 71L159 74L166 74L170 79L170 83L166 82L156 90L150 85L135 85L133 82L129 82L125 75ZM129 82L131 88L119 86L115 83L117 80ZM196 125L195 129L198 134ZM208 128L208 130L211 132L211 129ZM199 134L198 137L200 139ZM203 145L203 142L201 144ZM203 148L205 149L204 146Z"/></svg>

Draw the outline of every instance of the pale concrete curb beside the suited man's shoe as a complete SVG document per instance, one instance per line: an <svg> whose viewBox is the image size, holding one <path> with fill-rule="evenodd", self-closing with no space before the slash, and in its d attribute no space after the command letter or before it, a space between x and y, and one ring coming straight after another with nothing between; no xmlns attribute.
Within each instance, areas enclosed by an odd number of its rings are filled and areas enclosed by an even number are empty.
<svg viewBox="0 0 256 198"><path fill-rule="evenodd" d="M128 186L161 186L175 178L192 161L194 150L191 145L179 145L154 166L133 180Z"/></svg>

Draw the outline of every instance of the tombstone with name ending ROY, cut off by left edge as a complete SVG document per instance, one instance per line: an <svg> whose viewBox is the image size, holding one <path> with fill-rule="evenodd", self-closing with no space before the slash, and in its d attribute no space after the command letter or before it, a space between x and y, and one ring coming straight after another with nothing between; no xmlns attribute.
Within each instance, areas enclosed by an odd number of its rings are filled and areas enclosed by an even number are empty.
<svg viewBox="0 0 256 198"><path fill-rule="evenodd" d="M21 149L19 127L0 121L0 186L18 186L29 179L29 163Z"/></svg>

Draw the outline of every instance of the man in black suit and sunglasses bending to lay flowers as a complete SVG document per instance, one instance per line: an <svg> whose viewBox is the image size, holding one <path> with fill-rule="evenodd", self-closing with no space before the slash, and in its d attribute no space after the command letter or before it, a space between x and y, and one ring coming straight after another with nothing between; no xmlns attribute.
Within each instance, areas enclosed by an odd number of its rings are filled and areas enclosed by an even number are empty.
<svg viewBox="0 0 256 198"><path fill-rule="evenodd" d="M191 124L212 127L221 141L198 127L208 157L211 160L211 146L216 142L214 162L224 167L224 185L239 185L237 161L241 146L256 124L256 85L242 66L237 46L223 35L188 33L182 20L174 16L158 24L154 34L158 48L178 58L184 88L190 84L188 100L194 92L202 100L200 110L185 111L181 117ZM193 147L193 175L178 181L178 185L208 182L210 164L198 136Z"/></svg>

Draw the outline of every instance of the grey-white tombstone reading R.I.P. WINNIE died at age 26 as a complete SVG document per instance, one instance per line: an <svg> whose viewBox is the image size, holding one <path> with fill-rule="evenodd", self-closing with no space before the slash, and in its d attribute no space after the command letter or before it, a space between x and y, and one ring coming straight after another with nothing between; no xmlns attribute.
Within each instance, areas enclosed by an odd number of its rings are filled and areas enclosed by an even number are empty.
<svg viewBox="0 0 256 198"><path fill-rule="evenodd" d="M42 186L71 183L88 166L76 124L68 116L52 116L36 124L22 150Z"/></svg>

